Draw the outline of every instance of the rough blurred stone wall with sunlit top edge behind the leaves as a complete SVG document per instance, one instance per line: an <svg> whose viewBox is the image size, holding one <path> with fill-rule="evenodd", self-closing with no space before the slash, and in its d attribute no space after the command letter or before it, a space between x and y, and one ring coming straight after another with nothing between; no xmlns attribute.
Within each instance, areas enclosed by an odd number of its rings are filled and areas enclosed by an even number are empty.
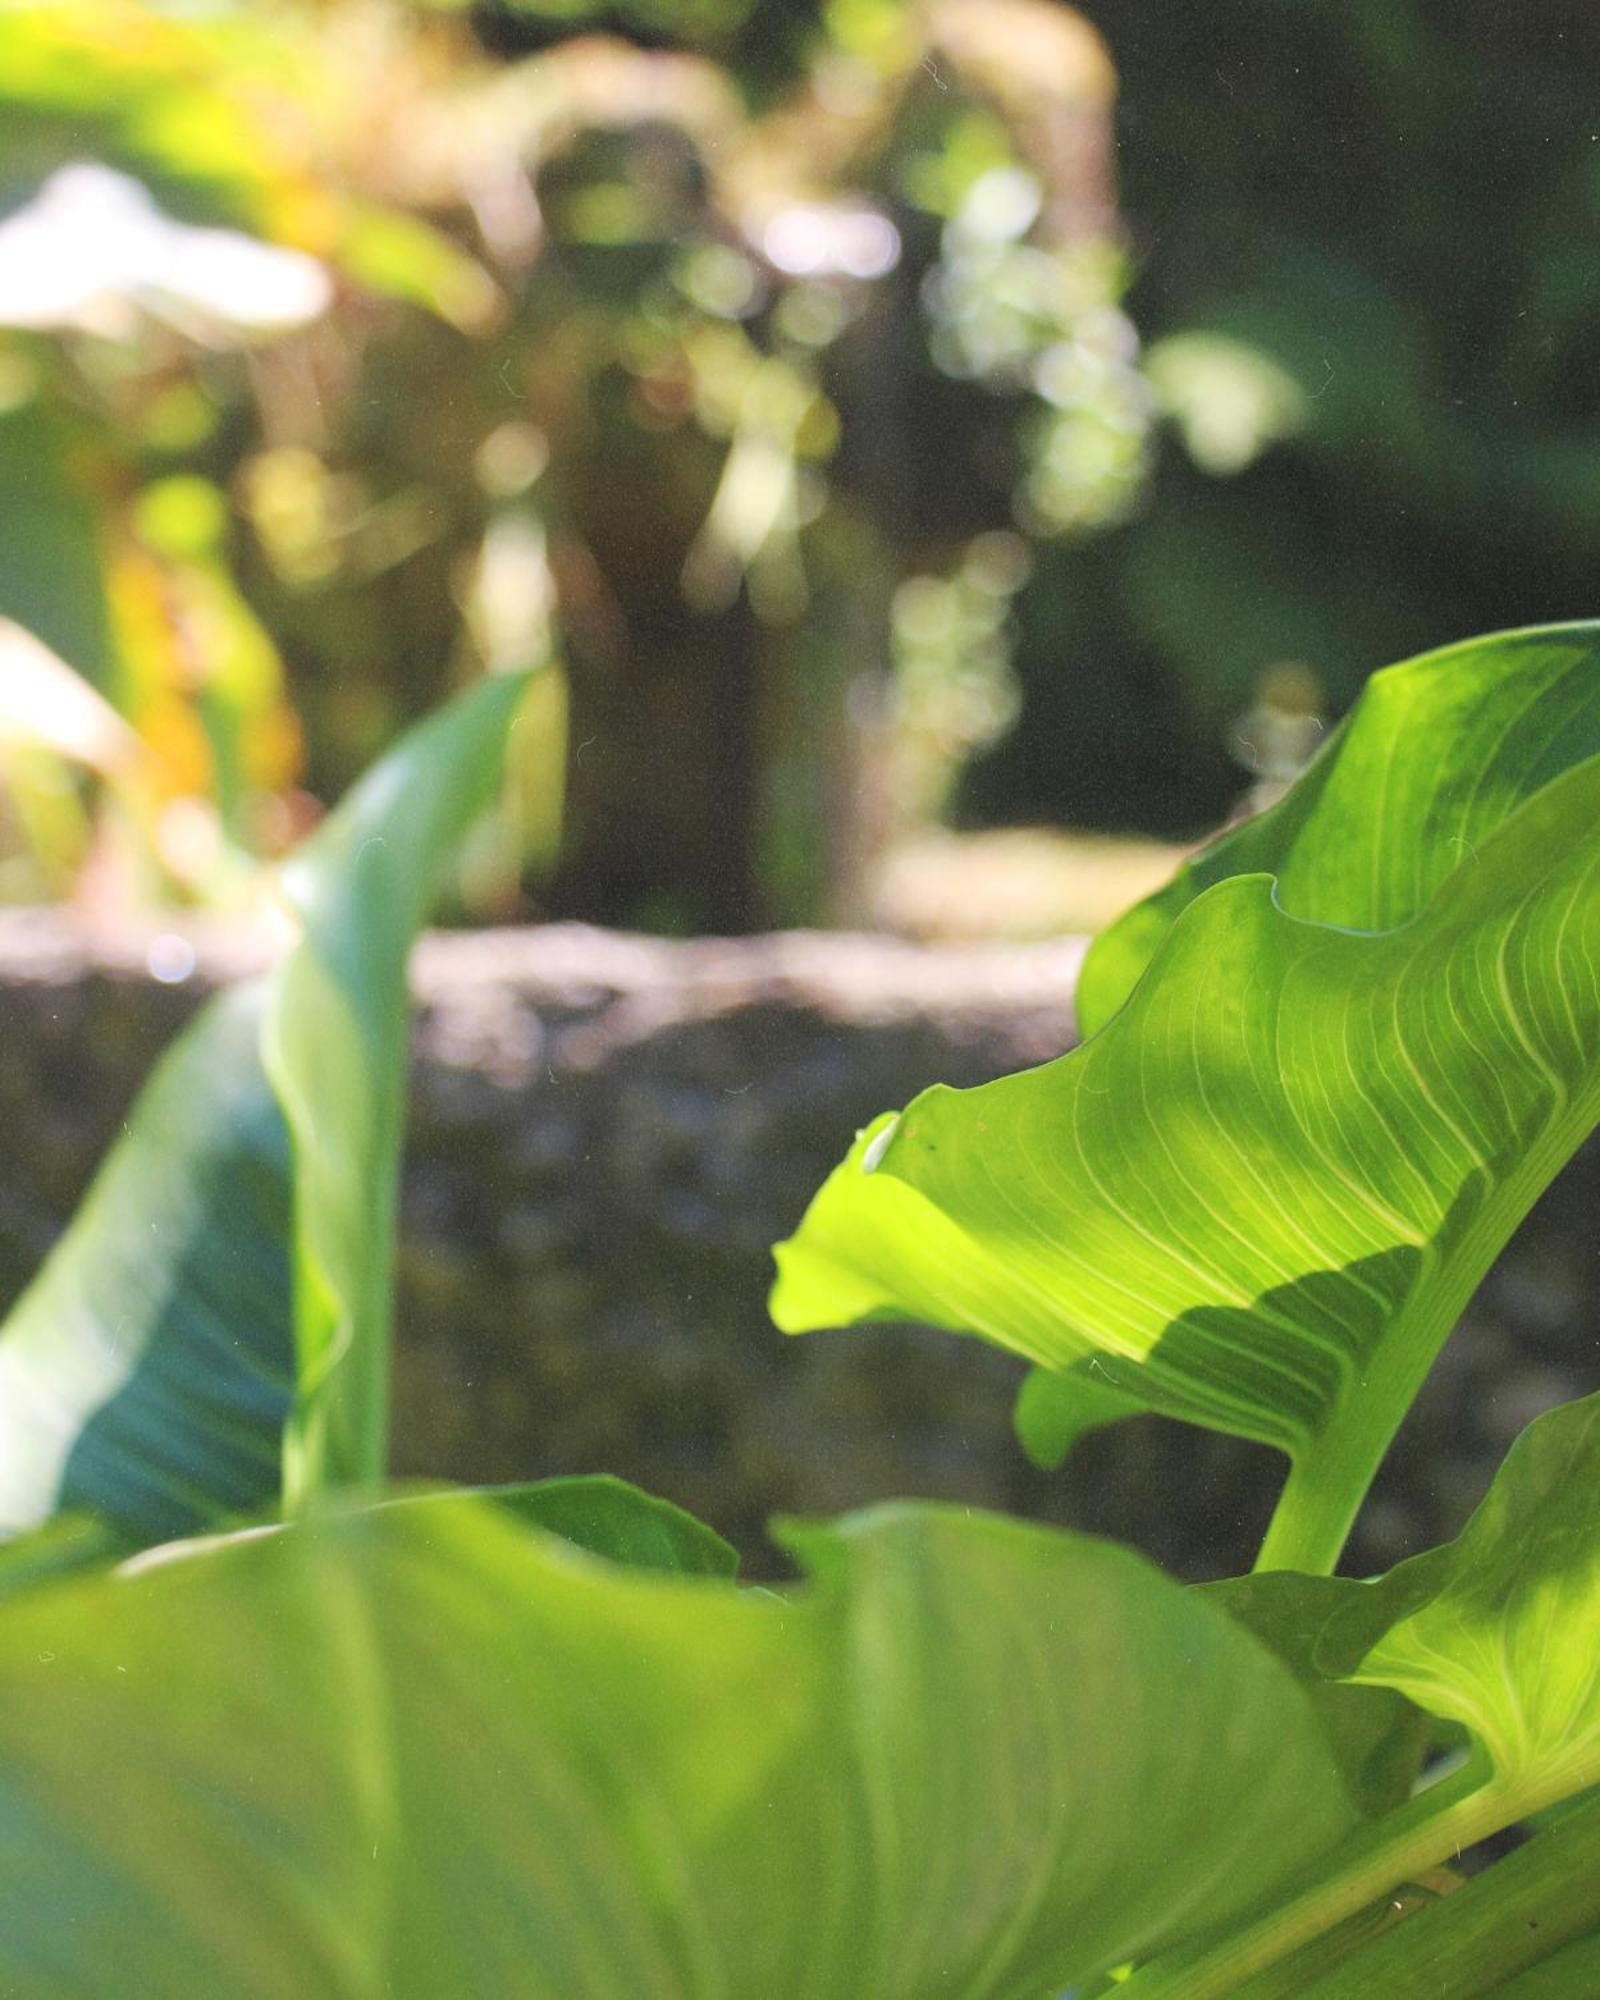
<svg viewBox="0 0 1600 2000"><path fill-rule="evenodd" d="M0 916L0 1306L48 1250L166 1040L260 938L86 940ZM780 936L672 944L580 928L434 936L400 1252L396 1458L462 1480L610 1470L772 1568L762 1522L896 1494L1126 1536L1238 1568L1270 1454L1156 1420L1060 1474L1010 1434L1020 1370L974 1340L784 1340L768 1244L850 1134L928 1082L1068 1046L1080 944ZM176 964L174 964L176 960ZM1540 1408L1600 1386L1600 1156L1550 1190L1418 1404L1352 1554L1452 1532Z"/></svg>

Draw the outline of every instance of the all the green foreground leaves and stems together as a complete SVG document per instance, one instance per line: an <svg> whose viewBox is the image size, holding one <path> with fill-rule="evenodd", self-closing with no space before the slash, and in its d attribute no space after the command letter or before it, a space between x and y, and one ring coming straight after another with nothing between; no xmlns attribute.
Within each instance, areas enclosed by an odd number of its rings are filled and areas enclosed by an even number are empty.
<svg viewBox="0 0 1600 2000"><path fill-rule="evenodd" d="M604 1478L384 1490L404 960L524 682L412 732L0 1330L0 1980L1586 1990L1600 1402L1456 1542L1330 1572L1596 1116L1596 688L1588 626L1380 676L1100 940L1074 1054L870 1128L780 1250L786 1326L1028 1354L1034 1450L1140 1406L1280 1444L1256 1574L1206 1590L914 1502L780 1524L802 1580L748 1588Z"/></svg>

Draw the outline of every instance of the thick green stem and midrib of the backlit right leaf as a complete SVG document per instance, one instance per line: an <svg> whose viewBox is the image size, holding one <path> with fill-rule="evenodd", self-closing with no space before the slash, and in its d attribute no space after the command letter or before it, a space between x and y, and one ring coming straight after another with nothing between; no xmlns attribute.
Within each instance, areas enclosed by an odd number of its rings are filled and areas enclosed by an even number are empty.
<svg viewBox="0 0 1600 2000"><path fill-rule="evenodd" d="M1290 1464L1256 1570L1332 1576L1378 1466L1438 1350L1516 1226L1588 1138L1596 1114L1600 1094L1590 1092L1566 1116L1552 1120L1544 1140L1484 1204L1448 1262L1432 1278L1420 1274L1412 1300L1384 1330L1368 1372L1346 1388L1326 1428Z"/></svg>

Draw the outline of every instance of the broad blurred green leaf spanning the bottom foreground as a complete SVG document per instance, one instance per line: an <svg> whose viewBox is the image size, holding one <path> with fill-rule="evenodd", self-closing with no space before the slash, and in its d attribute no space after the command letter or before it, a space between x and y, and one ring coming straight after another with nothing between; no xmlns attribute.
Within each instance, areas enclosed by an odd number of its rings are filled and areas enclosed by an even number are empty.
<svg viewBox="0 0 1600 2000"><path fill-rule="evenodd" d="M0 1604L0 1988L1038 2000L1350 1822L1300 1688L1108 1544L942 1508L788 1596L492 1504Z"/></svg>

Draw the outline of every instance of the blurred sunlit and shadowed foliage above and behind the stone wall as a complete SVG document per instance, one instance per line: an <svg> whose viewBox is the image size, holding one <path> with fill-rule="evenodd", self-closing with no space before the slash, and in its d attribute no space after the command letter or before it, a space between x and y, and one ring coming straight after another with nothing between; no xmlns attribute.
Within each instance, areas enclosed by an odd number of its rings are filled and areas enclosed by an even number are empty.
<svg viewBox="0 0 1600 2000"><path fill-rule="evenodd" d="M466 914L1048 928L1592 612L1600 18L1086 16L0 6L0 896L550 656Z"/></svg>

